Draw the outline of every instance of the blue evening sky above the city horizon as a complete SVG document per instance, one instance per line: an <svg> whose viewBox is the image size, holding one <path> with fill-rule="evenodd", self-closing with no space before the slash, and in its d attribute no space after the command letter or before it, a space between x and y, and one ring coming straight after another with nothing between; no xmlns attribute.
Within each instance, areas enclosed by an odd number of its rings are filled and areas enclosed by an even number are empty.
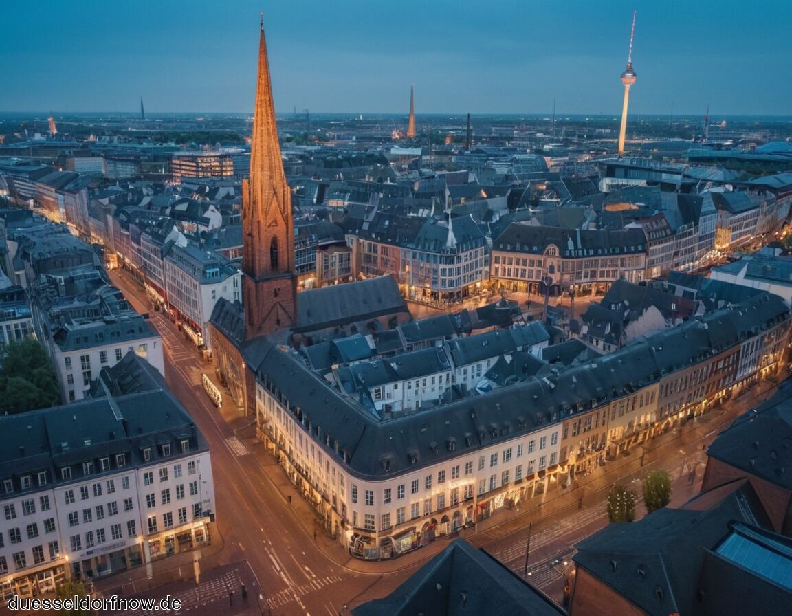
<svg viewBox="0 0 792 616"><path fill-rule="evenodd" d="M789 0L0 2L0 111L792 115Z"/></svg>

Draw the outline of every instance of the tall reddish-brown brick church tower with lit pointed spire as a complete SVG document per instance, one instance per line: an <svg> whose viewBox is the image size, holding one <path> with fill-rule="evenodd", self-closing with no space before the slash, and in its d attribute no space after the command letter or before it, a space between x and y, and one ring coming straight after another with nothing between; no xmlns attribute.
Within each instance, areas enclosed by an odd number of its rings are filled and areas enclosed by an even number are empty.
<svg viewBox="0 0 792 616"><path fill-rule="evenodd" d="M246 340L295 325L294 259L291 192L280 158L262 17L250 177L242 182L242 300Z"/></svg>

